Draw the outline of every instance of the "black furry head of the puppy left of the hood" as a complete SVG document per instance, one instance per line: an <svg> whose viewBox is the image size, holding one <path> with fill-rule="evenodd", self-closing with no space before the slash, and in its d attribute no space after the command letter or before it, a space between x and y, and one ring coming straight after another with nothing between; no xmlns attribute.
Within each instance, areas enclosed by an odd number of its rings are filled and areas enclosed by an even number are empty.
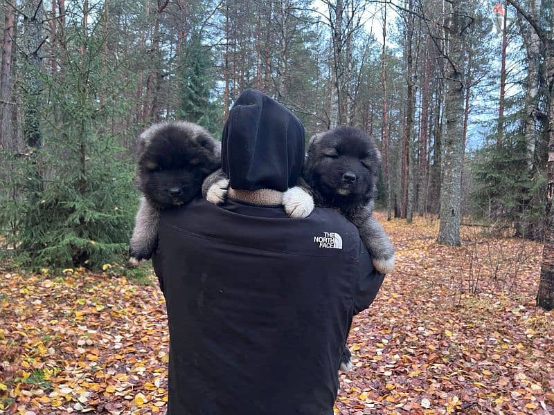
<svg viewBox="0 0 554 415"><path fill-rule="evenodd" d="M220 145L190 122L163 122L138 143L136 185L159 205L182 205L200 194L202 181L221 165Z"/></svg>

